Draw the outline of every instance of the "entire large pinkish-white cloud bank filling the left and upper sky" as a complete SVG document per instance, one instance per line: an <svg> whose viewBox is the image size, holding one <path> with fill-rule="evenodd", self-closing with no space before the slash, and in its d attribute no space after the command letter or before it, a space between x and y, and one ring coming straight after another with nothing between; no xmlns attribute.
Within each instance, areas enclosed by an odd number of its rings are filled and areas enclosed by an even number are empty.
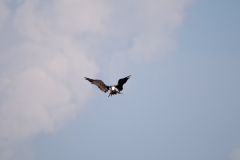
<svg viewBox="0 0 240 160"><path fill-rule="evenodd" d="M171 51L189 2L0 1L0 159L32 159L31 139L72 120L90 93L84 76Z"/></svg>

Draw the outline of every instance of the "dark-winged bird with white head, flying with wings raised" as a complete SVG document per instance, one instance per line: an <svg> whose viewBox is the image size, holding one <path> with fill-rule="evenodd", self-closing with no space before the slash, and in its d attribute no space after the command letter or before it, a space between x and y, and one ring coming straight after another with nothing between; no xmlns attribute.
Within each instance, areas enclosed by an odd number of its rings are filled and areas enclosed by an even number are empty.
<svg viewBox="0 0 240 160"><path fill-rule="evenodd" d="M118 80L118 84L117 85L112 85L112 86L108 86L106 85L102 80L99 79L91 79L91 78L87 78L84 77L85 80L88 80L90 83L96 85L101 91L103 92L108 92L108 90L110 90L110 93L108 95L112 96L112 95L117 95L117 94L122 94L121 91L123 90L123 85L127 82L127 80L130 78L131 75L125 77L125 78L121 78Z"/></svg>

